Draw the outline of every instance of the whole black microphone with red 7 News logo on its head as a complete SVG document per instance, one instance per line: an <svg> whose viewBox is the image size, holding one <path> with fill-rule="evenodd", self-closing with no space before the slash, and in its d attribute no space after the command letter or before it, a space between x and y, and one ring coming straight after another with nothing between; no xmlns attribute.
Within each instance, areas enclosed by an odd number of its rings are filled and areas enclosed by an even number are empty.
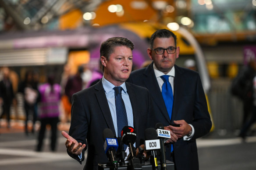
<svg viewBox="0 0 256 170"><path fill-rule="evenodd" d="M128 168L130 170L142 170L142 165L140 163L139 158L136 158L136 152L133 144L135 143L137 138L136 130L131 126L124 126L121 131L121 139L125 145L129 146L129 163Z"/></svg>

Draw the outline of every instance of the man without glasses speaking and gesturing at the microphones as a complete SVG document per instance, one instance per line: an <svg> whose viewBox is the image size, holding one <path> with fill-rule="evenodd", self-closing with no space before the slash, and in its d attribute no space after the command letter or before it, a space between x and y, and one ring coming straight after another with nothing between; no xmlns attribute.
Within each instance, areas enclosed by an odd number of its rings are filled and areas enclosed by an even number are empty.
<svg viewBox="0 0 256 170"><path fill-rule="evenodd" d="M125 83L132 70L133 48L133 43L127 38L114 37L103 42L100 48L103 78L72 97L71 127L69 134L62 131L62 135L67 138L65 145L68 154L80 163L85 159L85 149L88 149L86 170L97 170L98 163L108 161L103 149L103 130L110 128L115 136L121 135L122 128L117 128L115 87L122 87L126 120L137 131L136 147L144 139L144 131L149 127L147 119L153 112L149 91Z"/></svg>

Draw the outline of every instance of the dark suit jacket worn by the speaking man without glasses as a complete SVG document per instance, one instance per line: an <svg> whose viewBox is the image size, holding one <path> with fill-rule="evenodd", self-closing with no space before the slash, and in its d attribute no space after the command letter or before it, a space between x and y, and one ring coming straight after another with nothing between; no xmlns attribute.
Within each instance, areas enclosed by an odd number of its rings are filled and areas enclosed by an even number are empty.
<svg viewBox="0 0 256 170"><path fill-rule="evenodd" d="M144 87L126 83L126 88L132 104L133 124L137 131L136 147L138 147L140 140L144 139L145 129L149 127L149 114L153 114L151 98L149 91ZM78 142L86 144L88 149L84 167L86 170L97 170L98 163L108 162L103 149L102 132L105 128L110 128L116 134L102 80L100 80L94 86L72 96L69 135ZM78 156L68 154L78 160ZM82 156L84 160L84 150Z"/></svg>

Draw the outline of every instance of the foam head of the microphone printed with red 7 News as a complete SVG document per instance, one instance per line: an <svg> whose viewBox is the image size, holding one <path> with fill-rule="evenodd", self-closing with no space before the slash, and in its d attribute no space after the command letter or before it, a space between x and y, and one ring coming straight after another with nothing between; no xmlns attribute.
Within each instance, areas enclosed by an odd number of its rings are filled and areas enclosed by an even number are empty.
<svg viewBox="0 0 256 170"><path fill-rule="evenodd" d="M136 137L136 130L132 126L124 126L121 132L121 139L125 145L128 145L129 142L135 143Z"/></svg>

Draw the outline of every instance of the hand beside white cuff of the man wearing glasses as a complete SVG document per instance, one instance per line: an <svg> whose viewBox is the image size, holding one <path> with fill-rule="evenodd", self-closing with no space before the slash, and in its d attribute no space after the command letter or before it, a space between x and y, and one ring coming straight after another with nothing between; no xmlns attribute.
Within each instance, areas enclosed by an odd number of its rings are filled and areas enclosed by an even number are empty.
<svg viewBox="0 0 256 170"><path fill-rule="evenodd" d="M188 135L192 128L185 120L173 121L175 124L180 125L179 127L174 127L169 125L168 127L171 129L171 132L175 133L178 138L182 138L185 135Z"/></svg>

